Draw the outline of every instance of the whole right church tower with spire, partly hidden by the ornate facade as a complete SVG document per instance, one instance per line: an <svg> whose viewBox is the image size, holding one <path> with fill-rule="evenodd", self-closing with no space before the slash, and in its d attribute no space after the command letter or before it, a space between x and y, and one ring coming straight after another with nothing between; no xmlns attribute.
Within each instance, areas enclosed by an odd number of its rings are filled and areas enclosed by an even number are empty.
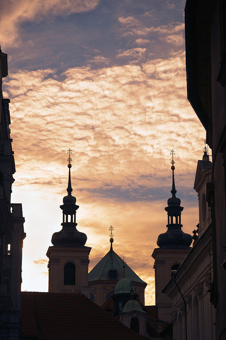
<svg viewBox="0 0 226 340"><path fill-rule="evenodd" d="M182 231L181 212L184 209L181 207L181 200L176 197L176 188L174 183L174 151L171 150L172 161L172 190L167 201L165 210L168 215L167 231L160 234L157 240L159 248L154 249L152 257L155 259L155 289L156 289L156 307L158 317L163 321L171 321L170 313L172 300L162 293L163 288L173 277L178 270L186 255L190 251L192 237Z"/></svg>

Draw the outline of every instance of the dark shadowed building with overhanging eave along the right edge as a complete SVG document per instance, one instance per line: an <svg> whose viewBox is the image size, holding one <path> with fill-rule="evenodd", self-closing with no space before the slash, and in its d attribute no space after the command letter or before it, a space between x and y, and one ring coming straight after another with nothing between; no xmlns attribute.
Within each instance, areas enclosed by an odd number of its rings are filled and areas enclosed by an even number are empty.
<svg viewBox="0 0 226 340"><path fill-rule="evenodd" d="M212 149L206 200L212 219L210 298L216 308L217 339L226 338L226 3L187 0L185 44L188 100Z"/></svg>

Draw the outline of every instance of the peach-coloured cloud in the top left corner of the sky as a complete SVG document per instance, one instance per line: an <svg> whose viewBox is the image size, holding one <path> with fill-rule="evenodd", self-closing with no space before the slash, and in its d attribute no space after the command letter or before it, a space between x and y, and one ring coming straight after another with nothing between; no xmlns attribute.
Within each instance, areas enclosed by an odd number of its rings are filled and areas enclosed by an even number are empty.
<svg viewBox="0 0 226 340"><path fill-rule="evenodd" d="M19 44L19 27L25 21L41 21L59 15L93 10L100 0L12 0L3 1L0 15L0 41L5 47Z"/></svg>

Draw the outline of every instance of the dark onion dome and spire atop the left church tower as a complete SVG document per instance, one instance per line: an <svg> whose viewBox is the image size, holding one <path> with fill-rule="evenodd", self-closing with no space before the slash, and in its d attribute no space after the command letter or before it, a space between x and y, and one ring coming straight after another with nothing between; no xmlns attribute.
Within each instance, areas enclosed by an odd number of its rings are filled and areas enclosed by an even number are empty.
<svg viewBox="0 0 226 340"><path fill-rule="evenodd" d="M70 178L72 161L70 157L72 153L70 148L67 153L69 154L67 159L67 167L69 168L67 196L63 198L63 204L60 205L60 208L63 210L63 222L61 223L62 230L53 234L51 242L53 245L62 247L84 246L87 236L76 229L76 211L78 210L79 205L76 204L76 198L71 195L73 189L71 187Z"/></svg>

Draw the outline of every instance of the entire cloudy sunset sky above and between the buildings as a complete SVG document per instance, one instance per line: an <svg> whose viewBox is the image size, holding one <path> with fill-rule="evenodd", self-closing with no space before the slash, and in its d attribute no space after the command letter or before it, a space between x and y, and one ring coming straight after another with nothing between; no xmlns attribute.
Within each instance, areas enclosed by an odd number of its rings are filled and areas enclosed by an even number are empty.
<svg viewBox="0 0 226 340"><path fill-rule="evenodd" d="M181 0L5 0L0 44L8 54L16 173L26 238L22 290L47 291L46 252L61 229L67 150L78 230L91 246L89 270L114 251L148 283L164 233L175 151L183 231L198 223L193 189L205 130L186 93Z"/></svg>

